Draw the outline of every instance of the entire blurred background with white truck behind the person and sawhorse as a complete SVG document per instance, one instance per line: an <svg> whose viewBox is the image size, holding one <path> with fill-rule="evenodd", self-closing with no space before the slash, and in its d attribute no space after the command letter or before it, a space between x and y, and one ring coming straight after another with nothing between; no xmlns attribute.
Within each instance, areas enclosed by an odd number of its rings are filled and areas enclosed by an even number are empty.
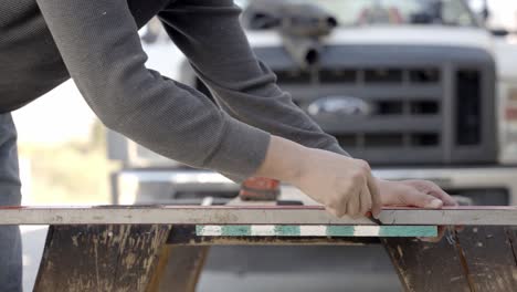
<svg viewBox="0 0 517 292"><path fill-rule="evenodd" d="M278 84L377 176L431 179L473 205L517 204L517 1L236 3ZM158 20L140 35L148 67L210 96ZM106 129L72 81L13 116L23 205L225 204L239 191ZM35 230L23 231L28 286L44 240ZM210 257L200 291L400 290L379 248L218 248Z"/></svg>

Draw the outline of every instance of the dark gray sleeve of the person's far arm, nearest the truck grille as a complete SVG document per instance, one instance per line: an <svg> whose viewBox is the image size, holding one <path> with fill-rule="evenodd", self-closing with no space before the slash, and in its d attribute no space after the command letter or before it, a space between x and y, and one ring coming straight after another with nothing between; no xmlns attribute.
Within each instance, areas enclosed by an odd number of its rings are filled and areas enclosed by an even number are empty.
<svg viewBox="0 0 517 292"><path fill-rule="evenodd" d="M256 59L232 0L178 0L158 15L218 103L233 117L310 148L348 154L276 85Z"/></svg>

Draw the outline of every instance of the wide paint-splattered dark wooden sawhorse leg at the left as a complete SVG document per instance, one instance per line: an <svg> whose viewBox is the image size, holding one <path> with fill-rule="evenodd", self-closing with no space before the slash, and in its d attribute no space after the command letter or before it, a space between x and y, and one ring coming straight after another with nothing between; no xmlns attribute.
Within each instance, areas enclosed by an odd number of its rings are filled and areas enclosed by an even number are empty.
<svg viewBox="0 0 517 292"><path fill-rule="evenodd" d="M170 226L51 226L34 291L145 291Z"/></svg>

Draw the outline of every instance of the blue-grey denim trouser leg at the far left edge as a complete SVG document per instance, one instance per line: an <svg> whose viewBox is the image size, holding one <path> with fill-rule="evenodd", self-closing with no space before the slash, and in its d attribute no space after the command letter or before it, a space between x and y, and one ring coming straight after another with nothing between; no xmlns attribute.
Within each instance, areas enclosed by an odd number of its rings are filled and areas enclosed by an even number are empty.
<svg viewBox="0 0 517 292"><path fill-rule="evenodd" d="M0 205L21 202L17 129L11 114L0 114ZM0 226L0 291L22 291L22 250L18 226Z"/></svg>

